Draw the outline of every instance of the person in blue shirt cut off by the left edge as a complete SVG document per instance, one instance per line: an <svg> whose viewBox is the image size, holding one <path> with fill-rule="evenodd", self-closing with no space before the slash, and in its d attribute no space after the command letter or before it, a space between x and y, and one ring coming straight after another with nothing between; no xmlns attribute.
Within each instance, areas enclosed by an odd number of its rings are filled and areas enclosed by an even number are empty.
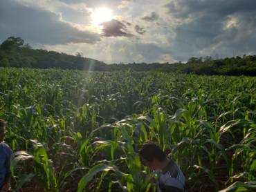
<svg viewBox="0 0 256 192"><path fill-rule="evenodd" d="M10 157L12 150L3 143L6 132L6 122L0 119L0 191L10 190Z"/></svg>

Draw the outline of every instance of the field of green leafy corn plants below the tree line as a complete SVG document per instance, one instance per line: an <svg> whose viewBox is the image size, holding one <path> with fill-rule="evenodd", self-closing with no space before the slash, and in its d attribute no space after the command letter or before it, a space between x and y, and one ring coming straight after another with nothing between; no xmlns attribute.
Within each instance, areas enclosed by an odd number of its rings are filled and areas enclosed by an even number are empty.
<svg viewBox="0 0 256 192"><path fill-rule="evenodd" d="M254 191L255 106L256 77L0 68L17 191L156 191L148 140L189 191Z"/></svg>

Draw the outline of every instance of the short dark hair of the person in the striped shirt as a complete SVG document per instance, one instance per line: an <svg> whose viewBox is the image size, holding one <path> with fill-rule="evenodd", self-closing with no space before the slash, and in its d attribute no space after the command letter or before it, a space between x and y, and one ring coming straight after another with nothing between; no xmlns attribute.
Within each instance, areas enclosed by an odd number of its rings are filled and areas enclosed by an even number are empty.
<svg viewBox="0 0 256 192"><path fill-rule="evenodd" d="M143 157L143 159L149 162L152 162L154 160L163 162L164 160L166 160L165 153L154 142L146 142L145 144L143 144L143 147L139 151L139 155L140 157Z"/></svg>

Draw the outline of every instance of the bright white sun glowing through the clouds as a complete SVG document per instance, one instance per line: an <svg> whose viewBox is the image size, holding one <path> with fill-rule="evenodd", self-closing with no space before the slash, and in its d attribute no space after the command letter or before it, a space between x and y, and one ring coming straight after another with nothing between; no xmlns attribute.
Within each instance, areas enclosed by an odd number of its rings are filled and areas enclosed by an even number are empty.
<svg viewBox="0 0 256 192"><path fill-rule="evenodd" d="M113 14L109 8L97 8L91 13L91 23L93 26L100 26L101 23L111 19L113 19Z"/></svg>

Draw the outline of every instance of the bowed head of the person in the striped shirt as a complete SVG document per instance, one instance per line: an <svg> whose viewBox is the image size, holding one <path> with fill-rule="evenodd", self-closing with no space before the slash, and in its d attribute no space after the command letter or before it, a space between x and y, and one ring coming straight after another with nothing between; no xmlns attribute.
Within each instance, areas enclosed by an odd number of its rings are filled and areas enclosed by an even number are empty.
<svg viewBox="0 0 256 192"><path fill-rule="evenodd" d="M167 156L154 142L146 142L139 152L140 160L151 169L159 169L161 164L167 160Z"/></svg>

